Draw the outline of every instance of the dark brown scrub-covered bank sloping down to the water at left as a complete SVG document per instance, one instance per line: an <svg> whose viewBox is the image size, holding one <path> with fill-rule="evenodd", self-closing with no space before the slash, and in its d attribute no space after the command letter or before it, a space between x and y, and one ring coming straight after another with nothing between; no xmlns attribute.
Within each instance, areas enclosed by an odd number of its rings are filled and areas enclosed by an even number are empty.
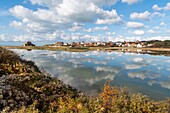
<svg viewBox="0 0 170 113"><path fill-rule="evenodd" d="M40 71L33 62L0 48L0 111L17 110L35 101L40 111L59 97L77 97L79 92L57 78ZM10 59L12 58L12 60Z"/></svg>

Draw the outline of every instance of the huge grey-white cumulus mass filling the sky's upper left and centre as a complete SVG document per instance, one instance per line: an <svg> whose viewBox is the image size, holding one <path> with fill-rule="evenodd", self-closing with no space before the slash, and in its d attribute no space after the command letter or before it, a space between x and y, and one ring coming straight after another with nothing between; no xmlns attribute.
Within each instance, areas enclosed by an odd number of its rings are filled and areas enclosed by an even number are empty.
<svg viewBox="0 0 170 113"><path fill-rule="evenodd" d="M68 29L78 31L83 28L84 23L112 24L122 21L121 16L115 9L111 11L102 9L102 6L114 5L118 0L29 0L33 5L42 6L37 10L31 10L21 5L9 9L9 12L18 18L11 22L11 26L22 30L26 35L39 34L40 36L51 35L53 39L68 39L70 34L54 35L56 31ZM82 3L83 2L83 3ZM105 30L101 28L101 30ZM100 30L95 28L94 31ZM89 30L90 31L90 30ZM41 37L35 38L41 38ZM77 36L76 36L77 37ZM86 37L88 37L86 35ZM74 39L74 37L73 37ZM77 39L77 38L76 38Z"/></svg>

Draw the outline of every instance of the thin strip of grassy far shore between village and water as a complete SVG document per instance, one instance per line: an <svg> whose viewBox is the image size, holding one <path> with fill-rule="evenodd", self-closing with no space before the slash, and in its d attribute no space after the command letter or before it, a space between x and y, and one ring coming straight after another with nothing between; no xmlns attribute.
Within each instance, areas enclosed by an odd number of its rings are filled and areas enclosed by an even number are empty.
<svg viewBox="0 0 170 113"><path fill-rule="evenodd" d="M132 48L132 47L68 47L68 46L3 46L6 49L26 49L26 50L49 50L68 52L88 52L88 51L116 51L124 53L140 53L150 55L170 56L170 48Z"/></svg>

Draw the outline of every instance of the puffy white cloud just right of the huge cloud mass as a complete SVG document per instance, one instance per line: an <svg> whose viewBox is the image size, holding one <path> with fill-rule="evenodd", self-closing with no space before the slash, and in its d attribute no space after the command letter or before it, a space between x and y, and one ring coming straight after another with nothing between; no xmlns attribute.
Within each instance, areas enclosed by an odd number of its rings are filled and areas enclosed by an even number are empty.
<svg viewBox="0 0 170 113"><path fill-rule="evenodd" d="M139 20L149 20L151 16L151 13L149 11L145 11L143 13L131 13L130 18L131 19L139 19Z"/></svg>

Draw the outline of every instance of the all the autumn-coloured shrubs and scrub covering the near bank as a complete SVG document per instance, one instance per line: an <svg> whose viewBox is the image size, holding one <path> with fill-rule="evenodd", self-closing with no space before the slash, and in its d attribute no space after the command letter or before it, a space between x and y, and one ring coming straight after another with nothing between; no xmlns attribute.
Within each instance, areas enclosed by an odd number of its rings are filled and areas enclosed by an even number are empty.
<svg viewBox="0 0 170 113"><path fill-rule="evenodd" d="M170 112L170 99L154 101L142 94L130 96L126 89L110 86L109 81L98 96L86 96L38 69L34 62L1 47L0 81L2 113Z"/></svg>

